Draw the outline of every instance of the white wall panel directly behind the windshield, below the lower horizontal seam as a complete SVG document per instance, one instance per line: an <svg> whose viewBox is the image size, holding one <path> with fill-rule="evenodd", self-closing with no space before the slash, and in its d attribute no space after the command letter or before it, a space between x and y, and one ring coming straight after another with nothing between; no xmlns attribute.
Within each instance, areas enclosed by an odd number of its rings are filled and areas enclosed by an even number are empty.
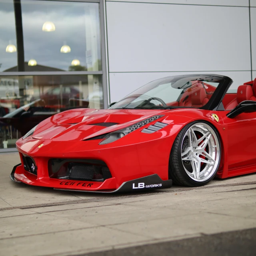
<svg viewBox="0 0 256 256"><path fill-rule="evenodd" d="M250 71L240 72L200 72L202 74L219 74L229 76L234 81L230 89L236 89L244 82L251 80ZM255 76L256 76L256 72ZM110 73L110 102L116 102L132 91L158 78L177 76L184 74L196 74L195 72L152 72L152 73Z"/></svg>

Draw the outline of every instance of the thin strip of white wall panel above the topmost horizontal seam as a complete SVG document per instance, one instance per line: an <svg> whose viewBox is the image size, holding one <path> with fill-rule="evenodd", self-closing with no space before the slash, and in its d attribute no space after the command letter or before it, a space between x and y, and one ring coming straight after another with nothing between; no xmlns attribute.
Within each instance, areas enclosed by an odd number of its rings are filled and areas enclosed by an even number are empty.
<svg viewBox="0 0 256 256"><path fill-rule="evenodd" d="M249 6L249 0L106 0L115 2L149 2L166 4L202 4L221 6ZM253 1L253 0L251 0Z"/></svg>

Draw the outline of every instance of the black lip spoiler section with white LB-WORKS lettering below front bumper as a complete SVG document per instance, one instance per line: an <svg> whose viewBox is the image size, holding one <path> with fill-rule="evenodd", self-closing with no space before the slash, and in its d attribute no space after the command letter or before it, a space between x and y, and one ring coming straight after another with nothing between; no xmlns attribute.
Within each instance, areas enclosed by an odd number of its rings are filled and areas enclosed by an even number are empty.
<svg viewBox="0 0 256 256"><path fill-rule="evenodd" d="M93 192L93 193L126 193L126 192L142 192L148 190L156 190L163 188L171 188L172 180L162 180L158 174L152 174L135 180L124 182L116 190L75 190L75 189L60 189L55 190L77 191L77 192Z"/></svg>

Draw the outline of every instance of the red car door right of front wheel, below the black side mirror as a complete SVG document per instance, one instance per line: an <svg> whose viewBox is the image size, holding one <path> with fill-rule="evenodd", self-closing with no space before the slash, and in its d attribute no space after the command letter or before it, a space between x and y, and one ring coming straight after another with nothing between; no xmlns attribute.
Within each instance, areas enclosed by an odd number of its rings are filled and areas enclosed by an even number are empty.
<svg viewBox="0 0 256 256"><path fill-rule="evenodd" d="M256 164L256 112L223 118L228 136L228 169Z"/></svg>

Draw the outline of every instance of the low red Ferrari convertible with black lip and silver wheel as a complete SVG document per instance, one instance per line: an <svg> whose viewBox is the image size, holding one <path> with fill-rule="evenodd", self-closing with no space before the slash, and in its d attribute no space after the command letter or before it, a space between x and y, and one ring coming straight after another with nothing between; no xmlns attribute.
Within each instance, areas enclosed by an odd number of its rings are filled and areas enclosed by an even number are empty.
<svg viewBox="0 0 256 256"><path fill-rule="evenodd" d="M128 192L202 186L256 172L256 79L155 80L107 110L72 109L17 141L14 181L60 190Z"/></svg>

